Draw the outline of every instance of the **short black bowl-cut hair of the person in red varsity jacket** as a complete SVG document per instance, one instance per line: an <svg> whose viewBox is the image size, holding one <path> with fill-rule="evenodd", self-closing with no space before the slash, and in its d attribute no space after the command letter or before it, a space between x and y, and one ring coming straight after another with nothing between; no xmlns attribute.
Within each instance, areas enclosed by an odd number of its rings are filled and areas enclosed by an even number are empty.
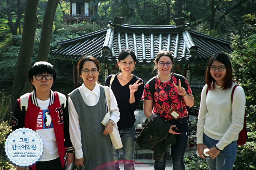
<svg viewBox="0 0 256 170"><path fill-rule="evenodd" d="M34 75L37 74L52 74L53 80L56 80L56 71L51 63L48 62L36 62L30 69L29 69L29 81L31 83L31 79L33 79ZM32 83L31 83L32 84ZM33 88L35 89L35 86L32 84Z"/></svg>

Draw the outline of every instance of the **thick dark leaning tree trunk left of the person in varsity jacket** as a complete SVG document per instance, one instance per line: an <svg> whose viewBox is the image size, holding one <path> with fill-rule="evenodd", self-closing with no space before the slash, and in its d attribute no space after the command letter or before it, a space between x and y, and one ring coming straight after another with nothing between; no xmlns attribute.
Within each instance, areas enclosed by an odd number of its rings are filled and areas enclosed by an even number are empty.
<svg viewBox="0 0 256 170"><path fill-rule="evenodd" d="M24 16L23 33L20 51L17 60L17 66L12 84L11 105L13 110L16 100L20 97L26 81L27 72L30 68L31 58L34 50L35 29L37 27L37 5L39 0L27 0L26 12ZM5 120L10 119L10 114L4 116Z"/></svg>

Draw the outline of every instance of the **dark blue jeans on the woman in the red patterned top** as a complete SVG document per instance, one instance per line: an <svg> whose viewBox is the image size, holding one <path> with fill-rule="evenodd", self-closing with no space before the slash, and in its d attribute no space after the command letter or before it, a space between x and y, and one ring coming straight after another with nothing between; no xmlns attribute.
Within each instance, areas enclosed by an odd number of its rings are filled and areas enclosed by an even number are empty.
<svg viewBox="0 0 256 170"><path fill-rule="evenodd" d="M176 125L182 135L175 135L176 143L171 145L171 157L173 170L185 170L184 164L184 154L186 151L186 146L188 142L188 120L186 118L180 118L178 120L169 121L172 125ZM167 150L165 156L159 160L155 161L155 170L165 170L167 158Z"/></svg>

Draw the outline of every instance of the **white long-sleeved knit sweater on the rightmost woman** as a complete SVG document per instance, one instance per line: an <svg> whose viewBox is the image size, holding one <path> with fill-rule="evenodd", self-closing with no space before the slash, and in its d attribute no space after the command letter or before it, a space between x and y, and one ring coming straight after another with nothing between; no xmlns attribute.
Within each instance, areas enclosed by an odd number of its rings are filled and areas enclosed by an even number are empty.
<svg viewBox="0 0 256 170"><path fill-rule="evenodd" d="M209 90L207 95L207 84L203 87L197 122L197 143L203 143L205 133L219 141L216 146L223 150L238 139L244 123L245 94L242 87L236 87L231 104L231 93L235 85L233 83L230 89L222 90L215 83L215 90Z"/></svg>

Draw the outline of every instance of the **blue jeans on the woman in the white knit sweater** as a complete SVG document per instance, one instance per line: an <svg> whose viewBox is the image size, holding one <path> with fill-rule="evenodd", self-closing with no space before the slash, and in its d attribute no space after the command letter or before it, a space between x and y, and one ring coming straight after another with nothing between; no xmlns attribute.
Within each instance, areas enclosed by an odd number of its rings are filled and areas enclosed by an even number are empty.
<svg viewBox="0 0 256 170"><path fill-rule="evenodd" d="M204 134L203 141L204 145L208 146L209 148L215 147L215 145L219 142L208 137L206 134ZM236 161L236 155L237 141L233 141L229 145L227 145L215 159L212 159L211 157L206 158L209 170L232 170L234 162Z"/></svg>

